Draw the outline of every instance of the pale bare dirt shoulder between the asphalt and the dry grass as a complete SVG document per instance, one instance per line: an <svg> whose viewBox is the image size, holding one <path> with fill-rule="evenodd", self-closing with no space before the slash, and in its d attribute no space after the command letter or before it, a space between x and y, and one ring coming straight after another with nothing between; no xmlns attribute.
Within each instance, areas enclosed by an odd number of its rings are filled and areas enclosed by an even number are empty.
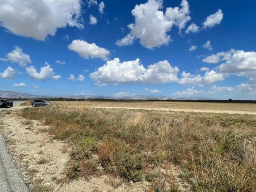
<svg viewBox="0 0 256 192"><path fill-rule="evenodd" d="M25 106L18 106L24 108ZM17 108L16 108L17 109ZM0 131L5 137L14 162L32 191L119 192L146 191L147 182L126 183L120 178L101 174L90 180L65 182L71 146L52 139L49 126L17 116L14 110L1 113ZM24 127L28 127L24 129ZM99 165L99 169L102 169ZM63 182L64 181L64 182Z"/></svg>

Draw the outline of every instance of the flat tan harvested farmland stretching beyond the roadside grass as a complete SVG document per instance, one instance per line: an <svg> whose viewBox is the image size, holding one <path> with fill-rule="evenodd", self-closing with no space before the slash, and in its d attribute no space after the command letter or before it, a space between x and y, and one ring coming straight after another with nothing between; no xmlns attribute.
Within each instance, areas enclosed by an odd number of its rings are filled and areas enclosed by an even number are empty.
<svg viewBox="0 0 256 192"><path fill-rule="evenodd" d="M85 105L95 108L126 108L162 111L184 111L184 112L206 112L206 113L228 113L228 114L254 114L256 115L256 104L254 103L221 103L221 102L170 102L170 101L66 101L53 102L56 105L77 106Z"/></svg>

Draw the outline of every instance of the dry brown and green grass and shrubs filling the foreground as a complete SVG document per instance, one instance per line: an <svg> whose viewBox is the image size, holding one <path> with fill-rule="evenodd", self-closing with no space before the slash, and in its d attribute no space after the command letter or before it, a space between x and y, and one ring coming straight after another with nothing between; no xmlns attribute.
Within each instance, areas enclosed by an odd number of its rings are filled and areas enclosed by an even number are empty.
<svg viewBox="0 0 256 192"><path fill-rule="evenodd" d="M112 110L86 106L24 108L72 145L68 179L104 172L150 182L151 191L256 191L253 115ZM38 162L40 163L40 162ZM176 173L175 171L176 170Z"/></svg>

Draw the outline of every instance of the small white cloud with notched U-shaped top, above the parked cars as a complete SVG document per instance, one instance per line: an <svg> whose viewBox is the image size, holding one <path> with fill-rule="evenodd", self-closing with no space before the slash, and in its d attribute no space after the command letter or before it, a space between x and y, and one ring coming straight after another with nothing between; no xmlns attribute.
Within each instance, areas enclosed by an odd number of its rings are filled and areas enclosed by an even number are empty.
<svg viewBox="0 0 256 192"><path fill-rule="evenodd" d="M54 75L53 69L48 66L41 67L40 72L36 72L36 68L34 66L30 66L26 68L26 72L29 78L36 80L46 80L49 79L52 75Z"/></svg>

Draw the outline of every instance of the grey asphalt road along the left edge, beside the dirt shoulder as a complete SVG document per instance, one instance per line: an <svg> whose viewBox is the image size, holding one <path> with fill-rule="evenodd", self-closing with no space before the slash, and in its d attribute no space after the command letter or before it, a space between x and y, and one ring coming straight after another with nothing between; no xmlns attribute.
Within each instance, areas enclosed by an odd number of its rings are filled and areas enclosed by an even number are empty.
<svg viewBox="0 0 256 192"><path fill-rule="evenodd" d="M13 108L25 101L14 101ZM2 110L8 108L0 108ZM0 119L1 123L1 119ZM29 192L26 183L20 176L12 156L8 152L4 137L0 133L0 192Z"/></svg>

